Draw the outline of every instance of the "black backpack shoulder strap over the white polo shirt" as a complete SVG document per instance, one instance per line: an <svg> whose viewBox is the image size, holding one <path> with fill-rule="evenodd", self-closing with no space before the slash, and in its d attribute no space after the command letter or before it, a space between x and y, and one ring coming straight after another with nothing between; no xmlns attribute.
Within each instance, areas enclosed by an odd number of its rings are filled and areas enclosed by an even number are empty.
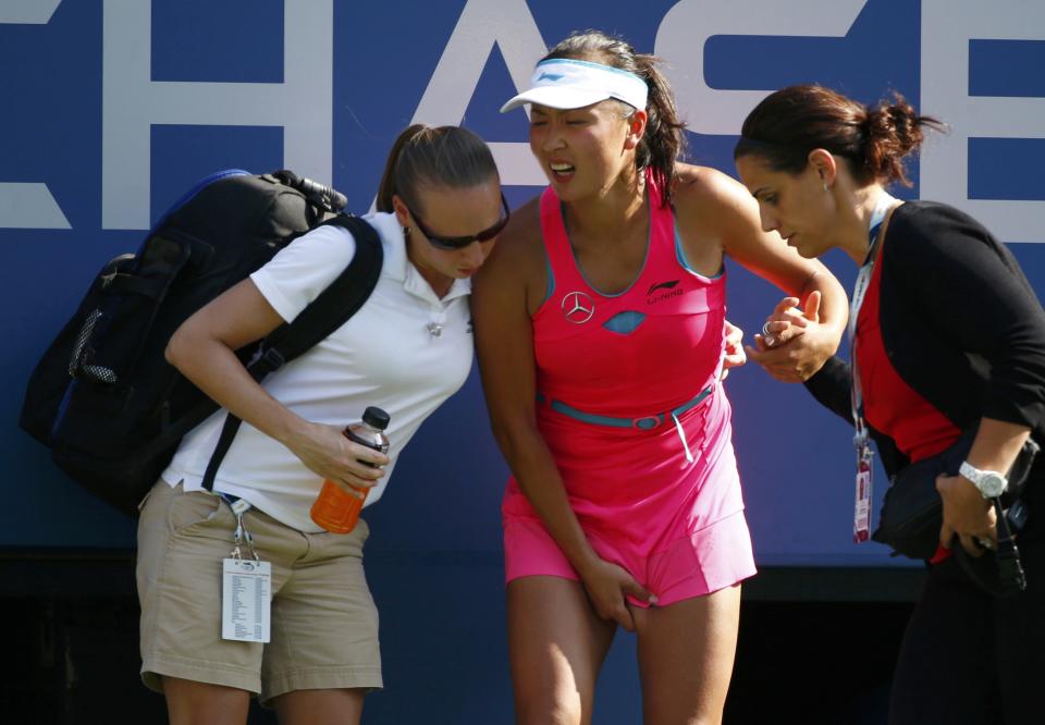
<svg viewBox="0 0 1045 725"><path fill-rule="evenodd" d="M247 372L258 382L285 362L311 349L347 322L366 304L378 284L384 250L377 231L353 214L337 214L323 224L348 230L356 242L356 253L345 271L302 310L293 322L276 328L265 339L260 354L247 366ZM210 456L204 474L202 486L208 491L214 489L218 468L229 453L241 422L243 421L231 413L225 416L214 453Z"/></svg>

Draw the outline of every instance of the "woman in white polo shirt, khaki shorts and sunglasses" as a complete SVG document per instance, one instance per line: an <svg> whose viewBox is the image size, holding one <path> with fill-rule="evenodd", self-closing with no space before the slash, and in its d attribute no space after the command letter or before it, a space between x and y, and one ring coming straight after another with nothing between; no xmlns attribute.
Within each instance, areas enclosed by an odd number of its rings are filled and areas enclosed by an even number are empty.
<svg viewBox="0 0 1045 725"><path fill-rule="evenodd" d="M201 423L143 508L138 530L142 675L172 723L245 723L259 693L281 722L358 723L379 688L378 617L362 573L366 523L322 531L309 508L324 479L381 497L421 422L471 368L469 278L508 209L490 149L458 127L414 125L389 157L366 219L384 263L362 308L260 385L233 351L293 320L348 265L352 235L321 226L189 318L168 359L243 419L214 491L250 506L243 525L271 563L271 639L221 638L222 560L236 516L201 489L223 415ZM388 456L342 435L368 405L391 415ZM381 466L371 468L366 463Z"/></svg>

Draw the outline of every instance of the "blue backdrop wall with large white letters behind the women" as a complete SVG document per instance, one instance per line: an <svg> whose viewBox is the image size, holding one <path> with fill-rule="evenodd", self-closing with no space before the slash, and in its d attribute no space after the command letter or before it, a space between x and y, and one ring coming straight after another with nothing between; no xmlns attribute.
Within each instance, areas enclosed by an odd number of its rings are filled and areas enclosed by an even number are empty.
<svg viewBox="0 0 1045 725"><path fill-rule="evenodd" d="M0 548L133 545L133 523L60 475L15 420L35 360L91 275L137 248L185 188L216 169L286 167L333 181L366 211L391 142L426 121L464 123L490 140L518 205L541 175L525 111L496 110L546 46L586 27L665 59L692 160L728 173L733 134L767 90L820 82L866 101L902 93L951 132L930 143L900 196L969 210L1015 243L1045 290L1034 244L1045 241L1038 2L4 0ZM851 285L848 260L827 262ZM736 266L729 273L729 318L750 336L779 293ZM760 565L902 565L851 542L849 429L754 366L727 388ZM370 722L416 722L428 703L443 713L429 722L509 722L506 476L474 374L367 509L389 685L368 704ZM878 496L882 488L880 475ZM632 647L622 639L603 677L614 686L599 709L616 722L640 717Z"/></svg>

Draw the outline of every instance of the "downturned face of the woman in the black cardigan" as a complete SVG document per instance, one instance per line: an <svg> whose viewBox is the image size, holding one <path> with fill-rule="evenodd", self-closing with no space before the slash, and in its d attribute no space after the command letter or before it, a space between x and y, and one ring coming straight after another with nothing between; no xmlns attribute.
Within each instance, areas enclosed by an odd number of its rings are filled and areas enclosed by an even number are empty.
<svg viewBox="0 0 1045 725"><path fill-rule="evenodd" d="M758 156L748 155L737 159L737 173L759 202L763 231L776 231L807 259L819 257L834 246L833 198L812 163L792 174L774 171Z"/></svg>

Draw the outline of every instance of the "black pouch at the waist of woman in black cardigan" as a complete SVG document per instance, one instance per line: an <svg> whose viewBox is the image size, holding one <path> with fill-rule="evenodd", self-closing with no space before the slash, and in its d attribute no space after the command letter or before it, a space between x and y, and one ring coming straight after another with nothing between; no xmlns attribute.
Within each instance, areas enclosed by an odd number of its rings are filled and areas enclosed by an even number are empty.
<svg viewBox="0 0 1045 725"><path fill-rule="evenodd" d="M913 463L893 476L872 539L911 558L931 558L936 553L939 527L944 521L944 506L936 491L936 478L958 475L978 430L979 427L967 430L946 451ZM1001 496L1004 509L1008 509L1023 493L1038 451L1037 442L1028 438L1008 471L1009 486Z"/></svg>

